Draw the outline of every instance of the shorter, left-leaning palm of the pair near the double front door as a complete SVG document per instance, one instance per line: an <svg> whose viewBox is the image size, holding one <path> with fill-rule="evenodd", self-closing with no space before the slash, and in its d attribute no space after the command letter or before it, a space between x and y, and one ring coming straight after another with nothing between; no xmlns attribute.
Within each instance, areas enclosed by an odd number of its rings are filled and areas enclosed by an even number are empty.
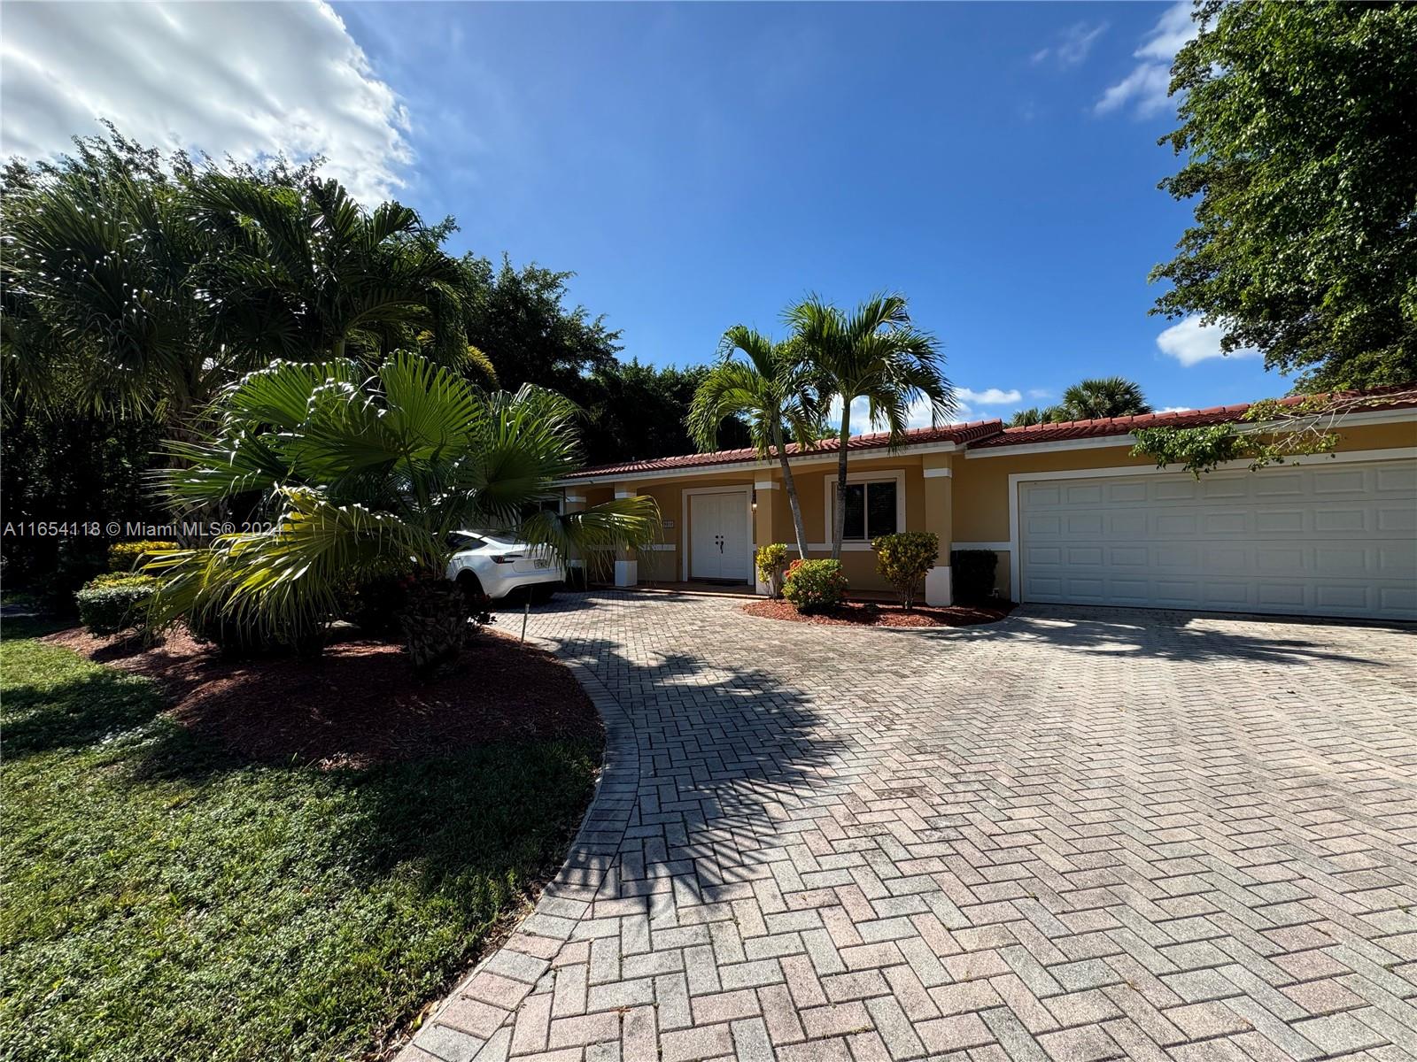
<svg viewBox="0 0 1417 1062"><path fill-rule="evenodd" d="M738 353L747 361L735 358ZM784 425L798 445L816 439L820 413L812 384L812 372L792 343L774 343L760 331L735 324L723 334L718 364L699 384L689 408L689 432L700 450L717 447L718 428L726 418L744 416L758 456L768 460L777 456L792 510L798 556L803 559L806 524L788 463Z"/></svg>

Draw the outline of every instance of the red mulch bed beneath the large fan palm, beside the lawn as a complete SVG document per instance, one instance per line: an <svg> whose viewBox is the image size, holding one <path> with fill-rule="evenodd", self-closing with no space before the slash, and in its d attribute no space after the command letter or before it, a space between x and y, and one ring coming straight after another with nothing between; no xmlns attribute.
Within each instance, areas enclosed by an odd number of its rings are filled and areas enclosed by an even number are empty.
<svg viewBox="0 0 1417 1062"><path fill-rule="evenodd" d="M368 767L502 741L591 738L599 715L550 653L483 630L453 670L419 681L398 646L344 641L316 660L222 660L186 630L157 646L82 629L48 641L156 680L170 714L264 763Z"/></svg>

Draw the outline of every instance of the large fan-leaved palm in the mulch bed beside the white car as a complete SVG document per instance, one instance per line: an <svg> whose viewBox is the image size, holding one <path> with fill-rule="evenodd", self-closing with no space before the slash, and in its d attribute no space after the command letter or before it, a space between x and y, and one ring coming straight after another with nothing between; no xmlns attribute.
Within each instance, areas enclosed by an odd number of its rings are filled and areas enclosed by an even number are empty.
<svg viewBox="0 0 1417 1062"><path fill-rule="evenodd" d="M415 354L371 378L347 358L276 361L214 412L214 435L171 445L183 467L160 473L163 493L179 513L254 500L268 527L157 555L154 623L225 619L299 644L339 615L351 583L402 578L407 647L427 670L456 656L473 610L445 579L455 531L512 528L564 558L636 547L657 527L649 497L568 515L541 504L578 463L570 401L533 387L485 394Z"/></svg>

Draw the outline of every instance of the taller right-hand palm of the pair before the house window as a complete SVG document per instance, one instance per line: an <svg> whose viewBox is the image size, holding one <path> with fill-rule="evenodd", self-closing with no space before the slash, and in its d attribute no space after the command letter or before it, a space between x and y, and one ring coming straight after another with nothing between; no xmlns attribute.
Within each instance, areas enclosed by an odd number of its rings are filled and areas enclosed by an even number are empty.
<svg viewBox="0 0 1417 1062"><path fill-rule="evenodd" d="M789 307L785 317L802 357L820 381L822 398L842 402L832 528L832 559L840 559L852 402L864 398L871 423L884 425L894 445L905 432L910 406L918 399L930 401L932 422L948 418L955 409L954 388L942 372L939 344L914 327L901 295L877 295L852 314L812 296Z"/></svg>

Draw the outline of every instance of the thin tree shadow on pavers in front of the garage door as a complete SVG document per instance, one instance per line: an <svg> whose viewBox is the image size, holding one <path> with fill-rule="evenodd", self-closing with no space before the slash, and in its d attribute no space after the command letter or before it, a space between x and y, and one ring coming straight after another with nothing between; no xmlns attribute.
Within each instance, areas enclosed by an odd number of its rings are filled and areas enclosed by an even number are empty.
<svg viewBox="0 0 1417 1062"><path fill-rule="evenodd" d="M1030 605L988 626L920 630L917 636L939 641L1046 643L1070 653L1190 663L1390 663L1349 651L1335 644L1331 636L1319 633L1333 626L1349 624L1281 616Z"/></svg>

